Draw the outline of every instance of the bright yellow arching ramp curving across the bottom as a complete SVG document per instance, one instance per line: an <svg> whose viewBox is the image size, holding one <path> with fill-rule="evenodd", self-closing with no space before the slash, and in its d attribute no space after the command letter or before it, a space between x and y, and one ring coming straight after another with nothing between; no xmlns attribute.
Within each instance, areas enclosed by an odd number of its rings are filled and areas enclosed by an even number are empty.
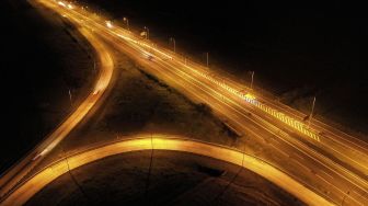
<svg viewBox="0 0 368 206"><path fill-rule="evenodd" d="M152 148L156 150L191 152L238 164L260 174L309 205L332 205L283 171L255 157L219 145L165 135L139 135L131 139L95 146L85 151L62 158L24 181L1 205L22 205L26 203L38 191L68 172L69 169L72 170L108 156Z"/></svg>

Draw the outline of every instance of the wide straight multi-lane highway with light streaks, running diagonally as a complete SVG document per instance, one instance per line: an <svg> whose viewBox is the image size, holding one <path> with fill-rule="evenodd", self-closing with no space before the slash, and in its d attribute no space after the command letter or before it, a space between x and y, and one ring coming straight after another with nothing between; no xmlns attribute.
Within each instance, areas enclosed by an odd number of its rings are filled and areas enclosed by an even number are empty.
<svg viewBox="0 0 368 206"><path fill-rule="evenodd" d="M243 136L256 156L336 205L368 205L368 146L324 123L308 127L298 111L252 91L233 79L187 61L79 7L37 2L82 24L127 54L148 72L194 101L206 102ZM153 58L148 58L151 56ZM244 138L245 139L245 138ZM253 149L254 149L253 148ZM314 204L317 205L317 204Z"/></svg>

